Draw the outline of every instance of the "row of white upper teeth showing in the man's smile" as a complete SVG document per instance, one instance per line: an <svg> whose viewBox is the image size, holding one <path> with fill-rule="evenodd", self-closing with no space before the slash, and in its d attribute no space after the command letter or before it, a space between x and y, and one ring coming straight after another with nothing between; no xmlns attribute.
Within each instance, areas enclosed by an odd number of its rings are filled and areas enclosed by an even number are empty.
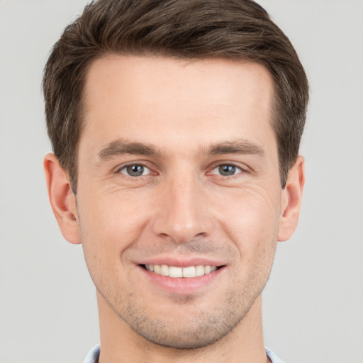
<svg viewBox="0 0 363 363"><path fill-rule="evenodd" d="M190 278L210 274L211 272L216 271L217 267L210 265L204 266L203 264L188 267L168 266L167 264L145 264L145 269L162 276Z"/></svg>

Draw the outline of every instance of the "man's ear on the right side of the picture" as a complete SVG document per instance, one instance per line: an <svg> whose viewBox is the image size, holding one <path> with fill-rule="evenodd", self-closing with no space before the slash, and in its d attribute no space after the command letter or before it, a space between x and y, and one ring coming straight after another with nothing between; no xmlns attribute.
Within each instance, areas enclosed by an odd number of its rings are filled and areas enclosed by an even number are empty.
<svg viewBox="0 0 363 363"><path fill-rule="evenodd" d="M281 194L281 215L279 224L279 241L291 238L298 225L298 215L301 207L301 197L305 184L305 160L299 156L289 170L286 186Z"/></svg>

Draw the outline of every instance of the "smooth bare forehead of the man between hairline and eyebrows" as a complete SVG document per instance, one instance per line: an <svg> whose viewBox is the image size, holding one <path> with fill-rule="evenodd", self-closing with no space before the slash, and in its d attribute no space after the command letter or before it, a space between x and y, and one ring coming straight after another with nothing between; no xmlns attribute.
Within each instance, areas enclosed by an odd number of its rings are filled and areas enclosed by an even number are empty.
<svg viewBox="0 0 363 363"><path fill-rule="evenodd" d="M271 137L272 88L257 64L108 55L87 74L81 144L126 138L186 147Z"/></svg>

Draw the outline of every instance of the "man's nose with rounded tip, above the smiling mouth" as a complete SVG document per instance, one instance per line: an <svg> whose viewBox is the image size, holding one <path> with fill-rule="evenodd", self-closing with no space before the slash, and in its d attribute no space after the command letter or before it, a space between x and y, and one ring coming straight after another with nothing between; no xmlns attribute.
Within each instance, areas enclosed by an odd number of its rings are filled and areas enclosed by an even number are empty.
<svg viewBox="0 0 363 363"><path fill-rule="evenodd" d="M176 243L208 237L213 228L211 208L203 185L193 177L169 181L161 186L153 232Z"/></svg>

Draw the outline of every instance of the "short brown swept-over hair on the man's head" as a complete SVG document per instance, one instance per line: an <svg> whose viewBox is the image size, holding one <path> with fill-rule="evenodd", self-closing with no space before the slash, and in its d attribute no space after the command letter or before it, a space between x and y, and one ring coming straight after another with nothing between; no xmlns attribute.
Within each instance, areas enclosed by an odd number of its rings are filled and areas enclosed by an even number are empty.
<svg viewBox="0 0 363 363"><path fill-rule="evenodd" d="M308 80L289 39L252 0L99 0L65 28L43 78L53 151L77 186L82 96L91 62L104 55L162 55L255 62L274 81L272 126L281 187L298 156Z"/></svg>

